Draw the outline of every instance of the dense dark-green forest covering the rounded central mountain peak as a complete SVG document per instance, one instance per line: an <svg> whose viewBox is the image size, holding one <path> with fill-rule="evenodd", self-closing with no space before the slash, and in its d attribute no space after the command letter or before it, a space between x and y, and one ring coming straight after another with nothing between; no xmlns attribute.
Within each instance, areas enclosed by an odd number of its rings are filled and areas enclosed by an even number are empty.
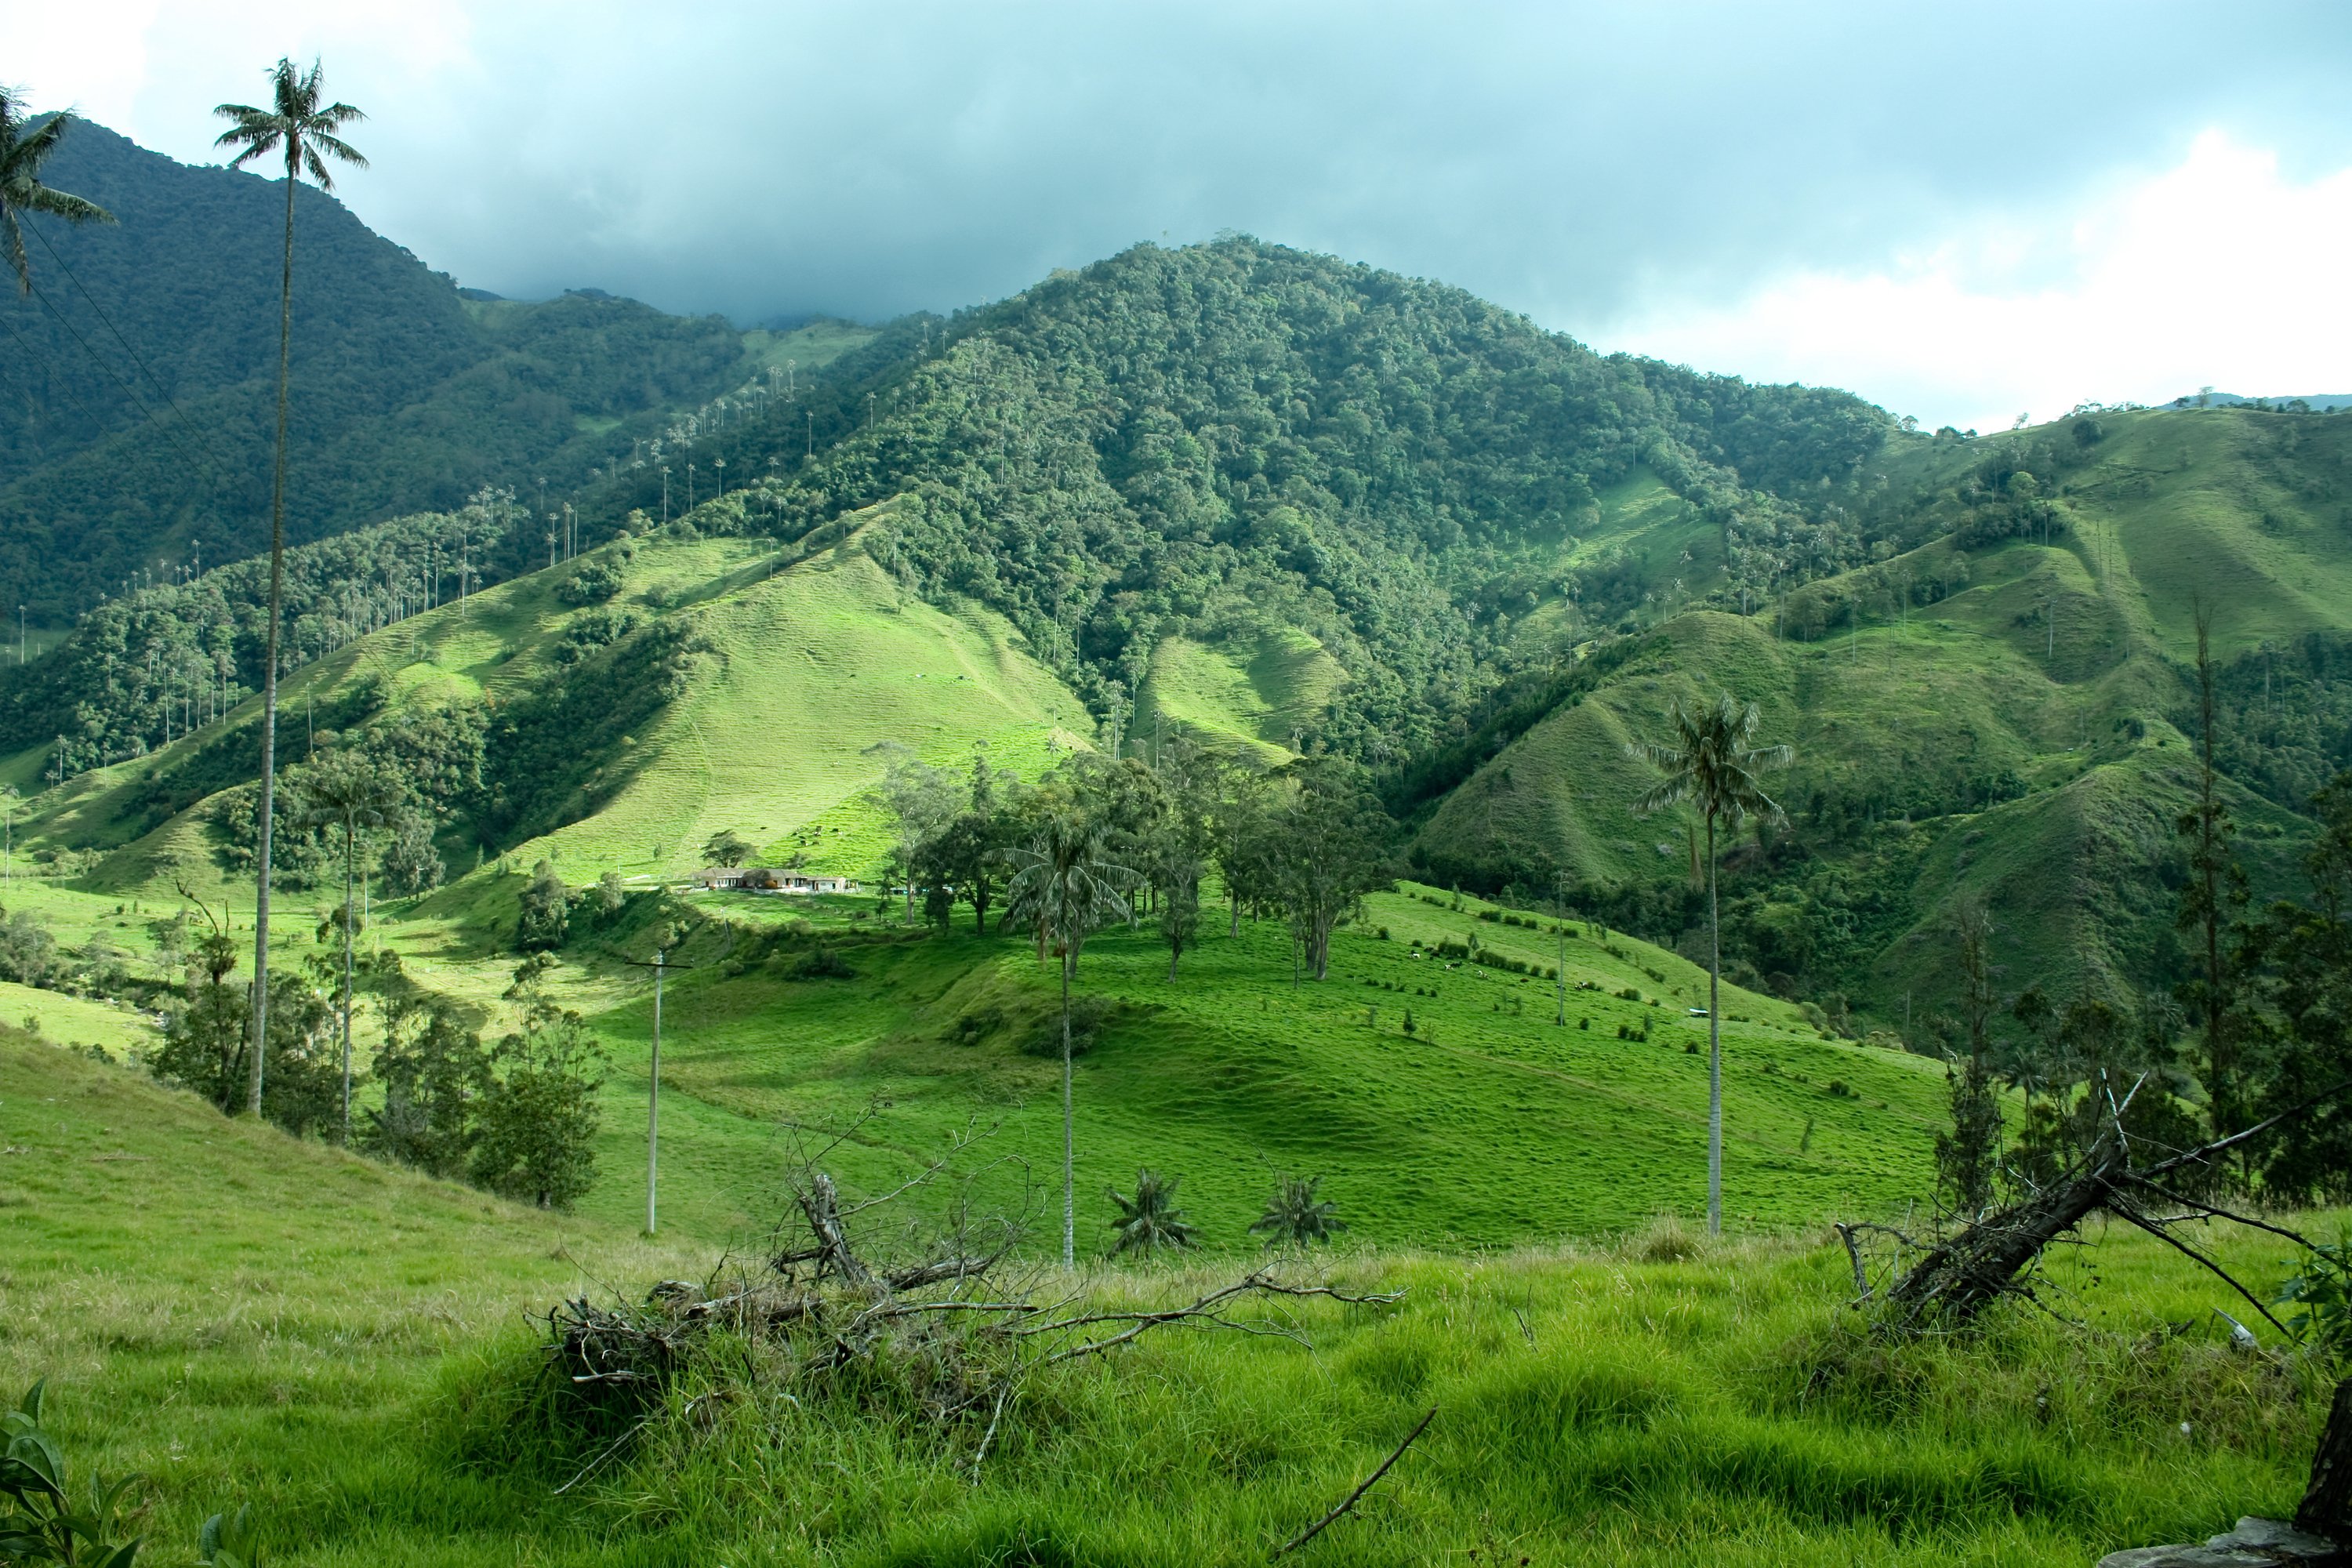
<svg viewBox="0 0 2352 1568"><path fill-rule="evenodd" d="M1305 628L1350 672L1315 738L1369 759L1463 729L1595 487L1646 463L1762 590L1860 559L1842 503L1896 428L1249 237L887 334L802 418L673 442L673 505L691 456L762 477L743 527L786 536L910 496L896 562L1007 614L1112 722L1160 637ZM654 473L623 482L661 508Z"/></svg>

